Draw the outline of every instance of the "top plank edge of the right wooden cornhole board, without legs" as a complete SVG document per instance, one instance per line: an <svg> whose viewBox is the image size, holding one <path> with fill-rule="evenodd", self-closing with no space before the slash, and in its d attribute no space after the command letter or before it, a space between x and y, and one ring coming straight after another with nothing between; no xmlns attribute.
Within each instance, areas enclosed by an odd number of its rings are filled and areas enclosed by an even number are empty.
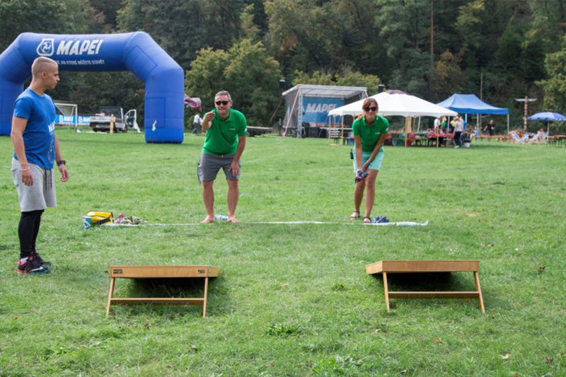
<svg viewBox="0 0 566 377"><path fill-rule="evenodd" d="M366 265L366 274L409 272L477 272L479 260L380 260Z"/></svg>

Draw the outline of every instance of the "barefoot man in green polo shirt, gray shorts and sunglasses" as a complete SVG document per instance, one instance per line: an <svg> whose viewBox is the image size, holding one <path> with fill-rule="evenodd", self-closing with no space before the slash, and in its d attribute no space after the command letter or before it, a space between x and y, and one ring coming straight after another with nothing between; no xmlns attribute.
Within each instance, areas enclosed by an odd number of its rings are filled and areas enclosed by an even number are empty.
<svg viewBox="0 0 566 377"><path fill-rule="evenodd" d="M214 190L212 185L220 168L228 182L228 221L237 223L238 179L240 158L246 147L248 122L238 110L231 109L232 98L227 91L214 96L215 109L202 119L202 131L206 132L199 162L199 179L202 181L202 200L207 217L202 224L214 222Z"/></svg>

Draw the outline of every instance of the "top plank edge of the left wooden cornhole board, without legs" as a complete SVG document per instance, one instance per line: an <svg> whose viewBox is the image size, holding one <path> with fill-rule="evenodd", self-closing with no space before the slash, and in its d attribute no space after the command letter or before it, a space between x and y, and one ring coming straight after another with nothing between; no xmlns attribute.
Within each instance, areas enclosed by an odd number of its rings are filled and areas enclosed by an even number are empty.
<svg viewBox="0 0 566 377"><path fill-rule="evenodd" d="M161 277L217 277L218 267L190 266L110 266L110 277L127 279L151 279Z"/></svg>

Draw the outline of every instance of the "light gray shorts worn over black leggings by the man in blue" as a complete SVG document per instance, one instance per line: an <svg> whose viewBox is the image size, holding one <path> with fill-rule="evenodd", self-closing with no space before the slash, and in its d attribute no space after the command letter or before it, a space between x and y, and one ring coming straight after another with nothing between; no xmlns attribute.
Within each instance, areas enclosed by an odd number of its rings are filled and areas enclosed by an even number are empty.
<svg viewBox="0 0 566 377"><path fill-rule="evenodd" d="M18 192L18 201L22 212L37 211L47 207L57 207L55 197L55 179L53 169L43 169L30 163L33 174L33 185L26 186L22 182L20 162L12 158L12 178Z"/></svg>

